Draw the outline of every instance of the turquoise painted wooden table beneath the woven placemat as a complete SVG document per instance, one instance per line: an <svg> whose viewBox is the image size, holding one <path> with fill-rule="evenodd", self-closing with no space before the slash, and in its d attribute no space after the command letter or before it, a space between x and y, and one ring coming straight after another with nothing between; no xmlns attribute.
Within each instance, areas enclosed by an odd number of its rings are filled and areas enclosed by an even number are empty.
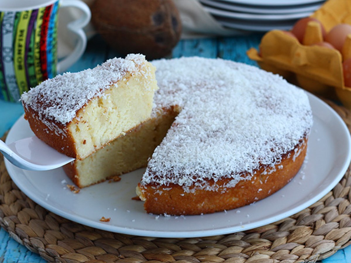
<svg viewBox="0 0 351 263"><path fill-rule="evenodd" d="M181 56L202 56L206 58L224 58L251 64L246 56L250 47L258 47L262 35L239 36L231 38L211 38L199 40L182 40L173 50L174 58ZM107 44L96 36L88 42L86 52L82 58L68 71L78 72L86 68L95 67L109 58L119 56L118 52L109 48ZM0 101L0 136L23 114L19 103ZM34 254L24 246L9 237L3 229L0 230L0 262L46 262L38 254ZM324 263L351 263L351 246L339 250Z"/></svg>

